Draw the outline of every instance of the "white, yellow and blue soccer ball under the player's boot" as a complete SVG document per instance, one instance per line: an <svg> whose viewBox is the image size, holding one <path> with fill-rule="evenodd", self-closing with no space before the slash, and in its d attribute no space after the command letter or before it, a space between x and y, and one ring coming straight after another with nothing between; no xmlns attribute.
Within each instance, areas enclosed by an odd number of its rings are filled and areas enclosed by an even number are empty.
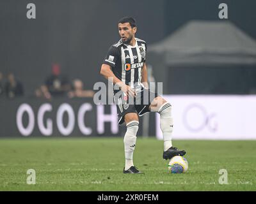
<svg viewBox="0 0 256 204"><path fill-rule="evenodd" d="M185 173L188 170L188 161L182 156L174 156L168 164L171 173Z"/></svg>

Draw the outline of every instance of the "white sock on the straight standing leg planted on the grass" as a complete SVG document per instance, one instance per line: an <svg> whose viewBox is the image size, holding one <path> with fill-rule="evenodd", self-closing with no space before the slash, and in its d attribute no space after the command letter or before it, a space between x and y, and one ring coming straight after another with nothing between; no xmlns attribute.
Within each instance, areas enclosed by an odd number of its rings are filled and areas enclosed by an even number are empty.
<svg viewBox="0 0 256 204"><path fill-rule="evenodd" d="M139 129L139 122L132 120L126 124L127 130L124 136L125 170L129 170L133 164L133 152L136 145L136 135Z"/></svg>

